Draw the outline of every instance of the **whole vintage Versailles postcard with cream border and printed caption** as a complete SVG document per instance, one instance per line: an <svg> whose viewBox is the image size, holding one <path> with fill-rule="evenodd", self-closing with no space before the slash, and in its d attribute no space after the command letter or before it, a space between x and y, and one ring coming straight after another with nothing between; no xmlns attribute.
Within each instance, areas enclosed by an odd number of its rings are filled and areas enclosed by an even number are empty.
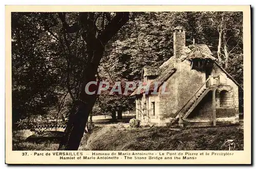
<svg viewBox="0 0 256 169"><path fill-rule="evenodd" d="M7 164L251 164L250 6L6 6Z"/></svg>

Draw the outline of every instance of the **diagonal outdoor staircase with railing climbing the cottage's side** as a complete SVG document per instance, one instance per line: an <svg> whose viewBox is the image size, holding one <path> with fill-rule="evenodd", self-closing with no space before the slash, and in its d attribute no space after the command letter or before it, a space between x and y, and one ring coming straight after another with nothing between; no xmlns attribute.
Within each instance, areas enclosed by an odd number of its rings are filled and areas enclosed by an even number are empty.
<svg viewBox="0 0 256 169"><path fill-rule="evenodd" d="M218 79L217 81L215 79ZM187 103L177 111L175 118L181 116L182 120L187 118L187 116L196 108L196 106L202 101L205 95L217 88L219 85L218 76L210 76L202 86L195 92L195 94L187 101ZM180 119L181 119L180 118Z"/></svg>

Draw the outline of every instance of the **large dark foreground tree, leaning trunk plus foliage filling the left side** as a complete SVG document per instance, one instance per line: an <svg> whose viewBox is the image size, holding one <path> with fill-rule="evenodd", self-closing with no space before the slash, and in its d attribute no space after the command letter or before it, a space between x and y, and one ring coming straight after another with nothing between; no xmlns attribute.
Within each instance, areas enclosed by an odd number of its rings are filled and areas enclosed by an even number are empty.
<svg viewBox="0 0 256 169"><path fill-rule="evenodd" d="M12 13L13 98L17 98L13 100L17 112L14 114L26 116L26 108L46 108L55 103L53 97L57 102L57 94L66 97L68 93L73 104L59 150L78 149L96 100L96 95L89 95L84 89L88 82L96 81L105 45L129 20L129 15L129 12ZM25 98L19 101L19 95Z"/></svg>

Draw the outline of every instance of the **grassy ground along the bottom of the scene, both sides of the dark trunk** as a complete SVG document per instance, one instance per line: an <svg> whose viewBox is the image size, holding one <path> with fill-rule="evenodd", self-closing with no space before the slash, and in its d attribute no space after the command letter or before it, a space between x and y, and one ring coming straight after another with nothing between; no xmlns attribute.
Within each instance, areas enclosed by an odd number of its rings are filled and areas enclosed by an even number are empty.
<svg viewBox="0 0 256 169"><path fill-rule="evenodd" d="M232 140L232 144L225 143ZM129 124L96 126L84 134L79 150L243 150L243 128L205 127L172 129L169 127L131 128ZM58 143L32 143L13 140L13 150L57 150Z"/></svg>

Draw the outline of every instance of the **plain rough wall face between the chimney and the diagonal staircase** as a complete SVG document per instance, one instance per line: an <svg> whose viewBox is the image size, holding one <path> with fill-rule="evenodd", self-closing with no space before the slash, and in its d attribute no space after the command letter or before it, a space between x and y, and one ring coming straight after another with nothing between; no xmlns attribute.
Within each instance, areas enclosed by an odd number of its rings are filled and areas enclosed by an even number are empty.
<svg viewBox="0 0 256 169"><path fill-rule="evenodd" d="M177 71L166 80L170 94L159 92L160 121L170 123L176 114L205 82L205 73L191 69L189 61L177 62Z"/></svg>

